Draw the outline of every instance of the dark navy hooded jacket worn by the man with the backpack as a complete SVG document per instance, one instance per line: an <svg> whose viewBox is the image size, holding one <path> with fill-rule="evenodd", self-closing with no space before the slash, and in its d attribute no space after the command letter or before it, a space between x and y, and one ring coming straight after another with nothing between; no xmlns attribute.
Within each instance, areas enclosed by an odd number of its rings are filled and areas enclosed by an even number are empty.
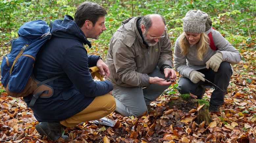
<svg viewBox="0 0 256 143"><path fill-rule="evenodd" d="M73 18L55 20L52 38L40 51L34 66L34 76L39 81L60 76L49 83L54 94L50 98L38 98L31 108L36 119L57 122L84 110L96 96L113 90L110 81L94 81L89 67L96 66L98 56L87 55L83 44L91 47L83 31ZM27 105L32 96L24 97Z"/></svg>

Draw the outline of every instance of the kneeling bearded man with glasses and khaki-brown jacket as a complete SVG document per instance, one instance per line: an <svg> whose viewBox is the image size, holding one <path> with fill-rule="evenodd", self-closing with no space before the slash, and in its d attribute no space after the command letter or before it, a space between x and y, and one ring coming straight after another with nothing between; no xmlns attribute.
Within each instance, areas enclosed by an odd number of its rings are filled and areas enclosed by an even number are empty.
<svg viewBox="0 0 256 143"><path fill-rule="evenodd" d="M116 112L140 116L176 79L170 38L159 14L122 21L110 41L107 80L114 89ZM166 80L166 79L171 79Z"/></svg>

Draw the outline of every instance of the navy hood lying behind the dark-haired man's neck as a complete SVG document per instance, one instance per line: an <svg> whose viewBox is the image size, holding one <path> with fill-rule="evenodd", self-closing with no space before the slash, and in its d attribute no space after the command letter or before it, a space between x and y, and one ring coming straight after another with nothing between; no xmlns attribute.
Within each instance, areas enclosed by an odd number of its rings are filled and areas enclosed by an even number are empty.
<svg viewBox="0 0 256 143"><path fill-rule="evenodd" d="M63 20L54 20L51 30L52 35L62 38L78 39L91 47L90 41L87 40L84 32L73 20L74 19L69 15L65 15Z"/></svg>

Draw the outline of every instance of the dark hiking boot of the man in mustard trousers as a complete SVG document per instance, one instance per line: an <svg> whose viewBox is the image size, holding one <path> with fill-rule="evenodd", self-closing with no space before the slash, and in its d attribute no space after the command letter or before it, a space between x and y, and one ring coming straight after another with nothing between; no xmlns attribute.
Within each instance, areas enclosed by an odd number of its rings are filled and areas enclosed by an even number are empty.
<svg viewBox="0 0 256 143"><path fill-rule="evenodd" d="M53 141L58 140L60 137L62 137L64 140L69 139L67 135L62 135L64 126L60 123L40 122L35 127L40 135L45 135Z"/></svg>

